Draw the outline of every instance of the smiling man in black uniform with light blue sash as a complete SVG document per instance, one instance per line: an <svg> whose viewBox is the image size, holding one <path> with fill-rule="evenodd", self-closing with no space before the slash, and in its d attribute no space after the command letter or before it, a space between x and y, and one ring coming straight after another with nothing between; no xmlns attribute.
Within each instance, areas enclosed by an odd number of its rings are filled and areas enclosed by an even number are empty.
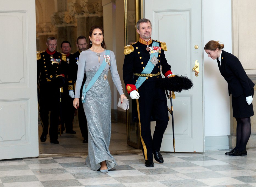
<svg viewBox="0 0 256 187"><path fill-rule="evenodd" d="M163 75L172 75L164 51L166 44L151 39L152 24L149 19L137 22L138 42L125 46L123 79L132 98L133 122L139 123L140 138L145 165L153 167L153 155L163 163L160 147L169 117L165 90L156 86ZM153 138L150 121L156 121Z"/></svg>

